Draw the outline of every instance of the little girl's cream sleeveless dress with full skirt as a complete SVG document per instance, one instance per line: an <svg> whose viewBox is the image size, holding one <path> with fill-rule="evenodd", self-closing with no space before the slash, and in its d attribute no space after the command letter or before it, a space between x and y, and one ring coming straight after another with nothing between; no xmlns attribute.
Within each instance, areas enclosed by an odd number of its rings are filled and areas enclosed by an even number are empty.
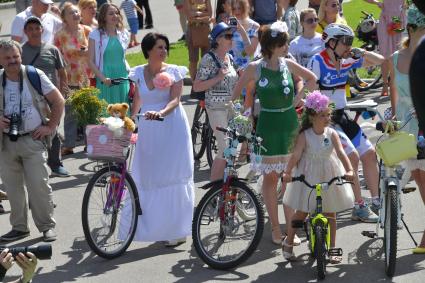
<svg viewBox="0 0 425 283"><path fill-rule="evenodd" d="M304 131L306 147L293 172L293 176L304 174L311 185L329 181L333 177L345 174L344 166L334 150L331 135L335 132L329 127L317 135L313 129ZM295 210L312 212L316 209L316 191L308 189L304 183L289 183L283 196L283 203ZM329 187L322 191L323 212L339 212L354 205L354 195L351 185L345 184Z"/></svg>

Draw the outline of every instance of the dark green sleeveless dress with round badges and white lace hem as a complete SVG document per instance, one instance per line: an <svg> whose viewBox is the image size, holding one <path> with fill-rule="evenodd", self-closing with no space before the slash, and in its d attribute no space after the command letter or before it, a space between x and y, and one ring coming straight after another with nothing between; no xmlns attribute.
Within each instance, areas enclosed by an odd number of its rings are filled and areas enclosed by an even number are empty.
<svg viewBox="0 0 425 283"><path fill-rule="evenodd" d="M257 168L263 173L281 173L289 158L298 129L297 113L292 106L294 83L282 59L280 70L266 68L265 61L259 63L259 79L256 92L261 111L257 121L256 133L263 139L261 165Z"/></svg>

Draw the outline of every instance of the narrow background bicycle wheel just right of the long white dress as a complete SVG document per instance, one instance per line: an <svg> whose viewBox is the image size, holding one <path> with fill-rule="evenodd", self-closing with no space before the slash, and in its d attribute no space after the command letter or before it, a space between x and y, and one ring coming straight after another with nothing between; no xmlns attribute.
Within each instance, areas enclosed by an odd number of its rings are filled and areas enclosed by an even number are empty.
<svg viewBox="0 0 425 283"><path fill-rule="evenodd" d="M193 116L191 129L193 158L196 160L201 159L202 155L204 155L205 148L207 146L206 137L208 133L208 127L207 111L198 104Z"/></svg>

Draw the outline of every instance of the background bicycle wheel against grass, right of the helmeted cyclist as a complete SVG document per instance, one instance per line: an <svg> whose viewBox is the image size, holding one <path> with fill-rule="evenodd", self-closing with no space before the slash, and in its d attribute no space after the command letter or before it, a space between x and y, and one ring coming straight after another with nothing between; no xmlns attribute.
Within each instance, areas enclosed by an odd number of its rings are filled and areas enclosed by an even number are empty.
<svg viewBox="0 0 425 283"><path fill-rule="evenodd" d="M367 91L382 86L380 66L362 67L353 70L354 88L358 91Z"/></svg>

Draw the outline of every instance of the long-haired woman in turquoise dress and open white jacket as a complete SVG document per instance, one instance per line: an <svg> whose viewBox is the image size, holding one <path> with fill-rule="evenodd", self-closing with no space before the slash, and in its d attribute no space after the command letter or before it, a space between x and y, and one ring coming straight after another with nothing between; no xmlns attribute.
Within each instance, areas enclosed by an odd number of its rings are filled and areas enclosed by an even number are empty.
<svg viewBox="0 0 425 283"><path fill-rule="evenodd" d="M129 72L125 60L129 34L124 29L119 8L114 4L103 4L98 22L99 27L89 35L89 64L96 75L99 97L108 103L128 102L128 82L111 84L111 79L127 77Z"/></svg>

